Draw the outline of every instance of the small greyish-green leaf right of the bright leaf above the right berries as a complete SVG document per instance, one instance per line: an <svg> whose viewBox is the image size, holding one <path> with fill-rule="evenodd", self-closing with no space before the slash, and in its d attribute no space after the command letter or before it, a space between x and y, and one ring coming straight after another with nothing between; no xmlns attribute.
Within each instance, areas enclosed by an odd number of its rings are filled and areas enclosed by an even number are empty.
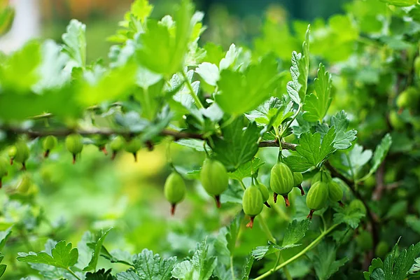
<svg viewBox="0 0 420 280"><path fill-rule="evenodd" d="M347 130L349 127L350 120L347 118L347 114L344 111L339 111L335 116L331 117L331 127L335 127L335 139L334 148L337 150L345 150L351 147L351 142L356 140L356 130Z"/></svg>

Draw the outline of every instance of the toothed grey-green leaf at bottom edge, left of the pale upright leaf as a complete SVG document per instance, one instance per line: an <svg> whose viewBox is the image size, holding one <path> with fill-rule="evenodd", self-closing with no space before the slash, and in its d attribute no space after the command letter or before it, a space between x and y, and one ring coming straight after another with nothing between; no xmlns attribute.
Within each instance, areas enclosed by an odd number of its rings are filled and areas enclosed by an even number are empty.
<svg viewBox="0 0 420 280"><path fill-rule="evenodd" d="M152 251L144 249L134 257L133 265L140 276L140 279L147 280L169 280L171 271L174 268L176 257L160 258L160 255L153 255Z"/></svg>

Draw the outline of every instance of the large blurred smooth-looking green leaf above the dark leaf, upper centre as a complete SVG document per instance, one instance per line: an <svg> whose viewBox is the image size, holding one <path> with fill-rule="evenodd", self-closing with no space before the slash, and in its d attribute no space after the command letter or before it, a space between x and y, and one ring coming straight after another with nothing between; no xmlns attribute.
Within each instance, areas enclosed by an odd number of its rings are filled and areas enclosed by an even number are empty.
<svg viewBox="0 0 420 280"><path fill-rule="evenodd" d="M274 57L264 57L243 73L224 69L218 80L215 99L225 113L239 116L251 111L269 97L278 80L277 62Z"/></svg>

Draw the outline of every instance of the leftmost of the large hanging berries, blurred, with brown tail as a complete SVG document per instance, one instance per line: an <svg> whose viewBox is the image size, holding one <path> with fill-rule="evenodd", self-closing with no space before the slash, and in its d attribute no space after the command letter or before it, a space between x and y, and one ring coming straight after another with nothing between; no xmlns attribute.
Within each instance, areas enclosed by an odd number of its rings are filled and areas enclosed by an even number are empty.
<svg viewBox="0 0 420 280"><path fill-rule="evenodd" d="M171 214L174 216L176 204L179 204L186 196L186 183L181 174L172 172L165 181L163 190L167 201L171 204Z"/></svg>

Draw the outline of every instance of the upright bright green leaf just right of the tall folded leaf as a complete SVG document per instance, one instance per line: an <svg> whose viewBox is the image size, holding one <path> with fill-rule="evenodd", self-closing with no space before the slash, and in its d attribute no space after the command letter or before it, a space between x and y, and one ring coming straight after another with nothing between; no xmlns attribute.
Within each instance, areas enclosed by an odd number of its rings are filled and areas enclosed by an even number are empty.
<svg viewBox="0 0 420 280"><path fill-rule="evenodd" d="M330 107L332 97L331 94L331 75L325 71L325 66L319 64L318 78L314 80L315 92L309 94L303 105L303 118L309 122L316 122L323 119Z"/></svg>

